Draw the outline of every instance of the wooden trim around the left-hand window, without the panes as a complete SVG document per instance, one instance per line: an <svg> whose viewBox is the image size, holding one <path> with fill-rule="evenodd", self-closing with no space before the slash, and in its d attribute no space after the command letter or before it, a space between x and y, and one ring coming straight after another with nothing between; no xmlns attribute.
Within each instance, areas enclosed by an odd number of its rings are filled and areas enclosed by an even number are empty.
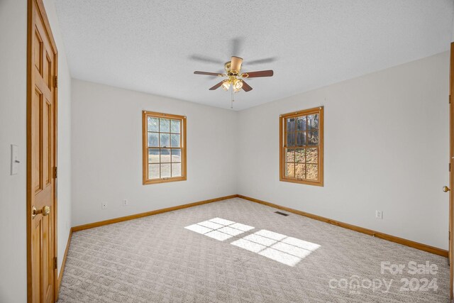
<svg viewBox="0 0 454 303"><path fill-rule="evenodd" d="M181 123L181 150L182 150L182 176L181 177L168 177L162 179L150 180L148 179L148 117L153 116L157 118L168 118L182 121ZM142 153L143 153L143 184L157 184L165 182L177 182L187 180L186 171L186 116L178 116L172 114L157 113L155 111L142 111Z"/></svg>

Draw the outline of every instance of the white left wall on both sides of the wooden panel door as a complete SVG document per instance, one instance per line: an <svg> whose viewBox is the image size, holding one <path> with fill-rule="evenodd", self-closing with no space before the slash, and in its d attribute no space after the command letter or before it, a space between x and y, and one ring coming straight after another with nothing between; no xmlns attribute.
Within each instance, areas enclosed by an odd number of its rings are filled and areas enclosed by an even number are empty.
<svg viewBox="0 0 454 303"><path fill-rule="evenodd" d="M51 0L45 9L60 51L58 255L60 264L71 225L70 74ZM0 302L26 302L26 50L27 1L0 0ZM10 145L21 165L10 175Z"/></svg>

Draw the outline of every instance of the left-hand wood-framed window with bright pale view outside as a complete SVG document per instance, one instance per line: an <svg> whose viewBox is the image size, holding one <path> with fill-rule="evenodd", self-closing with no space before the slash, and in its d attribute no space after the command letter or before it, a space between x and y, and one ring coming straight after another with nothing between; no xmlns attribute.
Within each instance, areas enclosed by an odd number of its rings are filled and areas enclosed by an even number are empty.
<svg viewBox="0 0 454 303"><path fill-rule="evenodd" d="M143 184L186 180L186 117L142 112Z"/></svg>

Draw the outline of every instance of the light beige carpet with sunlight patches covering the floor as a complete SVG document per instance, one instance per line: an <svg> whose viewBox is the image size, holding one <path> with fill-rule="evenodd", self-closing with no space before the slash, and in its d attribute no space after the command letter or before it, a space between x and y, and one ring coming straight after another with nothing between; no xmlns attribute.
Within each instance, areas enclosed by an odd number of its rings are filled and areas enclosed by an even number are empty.
<svg viewBox="0 0 454 303"><path fill-rule="evenodd" d="M59 302L449 302L446 258L275 211L230 199L73 233Z"/></svg>

